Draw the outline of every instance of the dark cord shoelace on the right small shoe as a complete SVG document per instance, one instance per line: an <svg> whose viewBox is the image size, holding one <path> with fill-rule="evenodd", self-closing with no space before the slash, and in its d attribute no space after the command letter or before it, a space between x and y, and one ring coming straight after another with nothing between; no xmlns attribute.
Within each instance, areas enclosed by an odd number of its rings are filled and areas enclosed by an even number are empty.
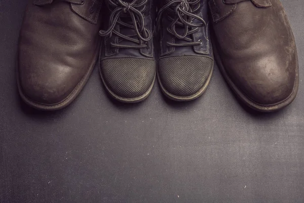
<svg viewBox="0 0 304 203"><path fill-rule="evenodd" d="M172 8L173 7L173 8ZM196 46L201 45L202 41L194 42L191 38L188 38L188 35L197 32L200 27L206 26L206 22L203 18L198 15L195 15L201 7L200 0L173 0L164 5L158 12L157 19L157 30L160 29L161 18L166 10L168 10L168 18L172 23L167 28L168 32L171 33L174 37L180 40L187 41L185 43L170 43L167 42L167 46L171 47L184 47L184 46ZM176 16L174 19L172 16ZM197 19L202 23L193 23L193 19ZM179 35L176 31L176 25L179 27L184 27L183 35Z"/></svg>

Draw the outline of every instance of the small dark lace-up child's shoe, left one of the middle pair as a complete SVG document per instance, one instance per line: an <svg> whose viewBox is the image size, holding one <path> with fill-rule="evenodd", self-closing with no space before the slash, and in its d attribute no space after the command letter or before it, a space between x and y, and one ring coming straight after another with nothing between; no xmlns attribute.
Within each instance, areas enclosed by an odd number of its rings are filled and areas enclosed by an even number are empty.
<svg viewBox="0 0 304 203"><path fill-rule="evenodd" d="M152 0L106 0L100 75L111 96L125 103L145 99L153 88L156 60Z"/></svg>

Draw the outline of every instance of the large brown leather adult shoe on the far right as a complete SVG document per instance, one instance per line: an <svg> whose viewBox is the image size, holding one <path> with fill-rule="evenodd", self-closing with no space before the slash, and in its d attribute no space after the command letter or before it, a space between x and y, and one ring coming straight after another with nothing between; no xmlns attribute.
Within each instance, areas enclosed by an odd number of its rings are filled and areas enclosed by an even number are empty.
<svg viewBox="0 0 304 203"><path fill-rule="evenodd" d="M279 0L209 0L214 55L227 83L262 112L289 105L298 89L293 33Z"/></svg>

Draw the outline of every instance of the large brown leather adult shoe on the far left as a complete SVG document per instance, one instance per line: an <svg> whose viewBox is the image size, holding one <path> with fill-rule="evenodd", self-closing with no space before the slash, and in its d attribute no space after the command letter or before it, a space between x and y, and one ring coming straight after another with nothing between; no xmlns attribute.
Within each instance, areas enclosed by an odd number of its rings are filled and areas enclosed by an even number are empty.
<svg viewBox="0 0 304 203"><path fill-rule="evenodd" d="M58 110L80 93L98 57L101 0L30 0L19 39L22 99Z"/></svg>

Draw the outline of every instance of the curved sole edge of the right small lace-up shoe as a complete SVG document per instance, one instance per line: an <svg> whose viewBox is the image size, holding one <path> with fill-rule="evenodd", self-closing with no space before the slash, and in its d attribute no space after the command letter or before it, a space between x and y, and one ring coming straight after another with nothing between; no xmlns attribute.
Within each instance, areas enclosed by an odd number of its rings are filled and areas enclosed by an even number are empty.
<svg viewBox="0 0 304 203"><path fill-rule="evenodd" d="M207 87L208 87L208 85L209 85L209 83L210 83L210 80L211 80L211 76L212 76L212 73L213 73L213 67L214 67L214 61L212 62L212 68L211 68L211 71L210 71L210 74L209 74L209 76L208 76L208 78L207 78L206 83L205 83L204 86L200 89L200 91L198 91L196 94L193 94L193 95L191 95L191 96L176 96L176 95L174 95L174 94L171 94L170 92L168 92L168 91L164 88L164 86L163 86L163 84L162 84L162 82L161 82L161 79L160 79L160 76L159 76L160 74L159 74L159 73L157 73L157 77L158 77L159 84L160 84L160 86L161 86L161 90L162 90L162 92L164 93L164 95L165 95L166 97L168 97L168 98L170 98L170 99L172 99L172 100L174 100L174 101L191 101L191 100L194 100L194 99L200 97L200 96L206 91L206 89L207 89Z"/></svg>

